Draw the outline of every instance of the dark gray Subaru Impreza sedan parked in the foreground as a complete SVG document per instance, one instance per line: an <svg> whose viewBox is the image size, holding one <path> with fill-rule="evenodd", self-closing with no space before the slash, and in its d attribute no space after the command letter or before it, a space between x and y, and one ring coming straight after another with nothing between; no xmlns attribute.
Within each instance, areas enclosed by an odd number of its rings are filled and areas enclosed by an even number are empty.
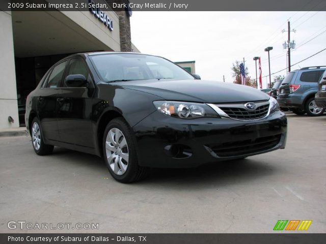
<svg viewBox="0 0 326 244"><path fill-rule="evenodd" d="M103 157L120 182L150 167L196 167L284 148L287 120L274 98L204 81L139 53L74 54L52 66L26 102L38 155L61 146Z"/></svg>

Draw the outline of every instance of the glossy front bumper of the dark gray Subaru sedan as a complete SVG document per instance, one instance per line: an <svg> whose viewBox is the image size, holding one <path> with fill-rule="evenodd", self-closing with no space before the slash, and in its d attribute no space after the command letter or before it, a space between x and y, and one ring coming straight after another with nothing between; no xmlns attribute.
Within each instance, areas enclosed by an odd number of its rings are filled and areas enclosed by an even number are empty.
<svg viewBox="0 0 326 244"><path fill-rule="evenodd" d="M287 119L281 111L256 121L186 120L155 111L133 130L141 166L187 168L284 148Z"/></svg>

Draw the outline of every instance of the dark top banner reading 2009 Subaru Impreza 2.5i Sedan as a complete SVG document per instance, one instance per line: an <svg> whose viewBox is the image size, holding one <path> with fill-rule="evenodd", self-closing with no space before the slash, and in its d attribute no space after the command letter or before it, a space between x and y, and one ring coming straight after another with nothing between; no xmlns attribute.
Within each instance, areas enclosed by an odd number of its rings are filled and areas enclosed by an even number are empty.
<svg viewBox="0 0 326 244"><path fill-rule="evenodd" d="M326 11L320 0L1 0L2 11Z"/></svg>

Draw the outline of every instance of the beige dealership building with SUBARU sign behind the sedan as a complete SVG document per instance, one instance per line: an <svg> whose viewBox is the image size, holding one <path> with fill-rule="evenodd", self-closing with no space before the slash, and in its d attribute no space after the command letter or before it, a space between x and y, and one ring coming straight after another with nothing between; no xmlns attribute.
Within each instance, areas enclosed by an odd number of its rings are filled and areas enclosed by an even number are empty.
<svg viewBox="0 0 326 244"><path fill-rule="evenodd" d="M98 8L0 11L0 129L24 126L26 97L61 58L90 51L139 52L131 43L129 18L128 11Z"/></svg>

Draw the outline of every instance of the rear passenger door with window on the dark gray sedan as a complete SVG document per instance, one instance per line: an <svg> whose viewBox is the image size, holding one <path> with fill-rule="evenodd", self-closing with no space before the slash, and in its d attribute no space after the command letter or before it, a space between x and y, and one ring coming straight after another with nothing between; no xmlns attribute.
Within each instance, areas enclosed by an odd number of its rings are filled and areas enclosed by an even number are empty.
<svg viewBox="0 0 326 244"><path fill-rule="evenodd" d="M45 140L59 140L57 97L60 93L67 60L51 69L37 97L37 113Z"/></svg>

